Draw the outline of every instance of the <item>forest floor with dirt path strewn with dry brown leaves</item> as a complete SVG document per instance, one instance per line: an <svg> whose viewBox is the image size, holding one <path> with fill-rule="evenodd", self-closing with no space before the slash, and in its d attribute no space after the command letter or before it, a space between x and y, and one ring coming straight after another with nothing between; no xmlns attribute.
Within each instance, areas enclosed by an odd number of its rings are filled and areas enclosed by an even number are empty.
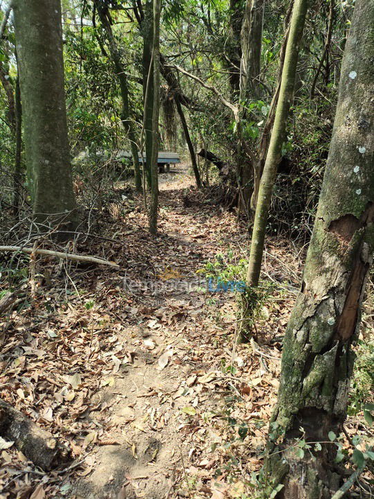
<svg viewBox="0 0 374 499"><path fill-rule="evenodd" d="M239 293L206 290L202 270L238 264L248 238L192 184L185 167L160 175L158 238L141 197L113 202L95 228L108 240L69 251L120 268L38 260L37 296L1 319L1 398L74 459L44 473L3 445L1 499L245 498L259 486L304 249L268 239L271 291L256 341L238 344Z"/></svg>

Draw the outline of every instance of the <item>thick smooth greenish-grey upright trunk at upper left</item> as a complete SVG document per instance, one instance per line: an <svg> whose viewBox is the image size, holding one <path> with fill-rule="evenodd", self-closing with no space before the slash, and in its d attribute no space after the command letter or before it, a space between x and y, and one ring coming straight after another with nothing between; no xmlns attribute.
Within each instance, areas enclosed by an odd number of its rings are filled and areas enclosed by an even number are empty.
<svg viewBox="0 0 374 499"><path fill-rule="evenodd" d="M66 124L61 4L15 0L28 182L36 222L75 225Z"/></svg>

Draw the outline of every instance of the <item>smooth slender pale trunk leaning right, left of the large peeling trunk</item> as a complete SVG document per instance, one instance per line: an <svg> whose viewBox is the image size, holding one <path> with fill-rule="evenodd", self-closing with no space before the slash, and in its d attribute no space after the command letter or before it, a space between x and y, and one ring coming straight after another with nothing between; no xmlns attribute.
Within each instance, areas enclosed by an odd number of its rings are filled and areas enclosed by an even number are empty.
<svg viewBox="0 0 374 499"><path fill-rule="evenodd" d="M250 263L247 270L248 286L257 286L259 283L266 222L268 221L272 188L277 173L279 159L281 157L283 140L286 134L288 114L293 100L299 44L303 33L307 6L308 0L297 0L294 3L294 10L292 12L277 112L275 114L268 155L263 168L263 174L261 175L259 199L256 204L256 213L254 216Z"/></svg>

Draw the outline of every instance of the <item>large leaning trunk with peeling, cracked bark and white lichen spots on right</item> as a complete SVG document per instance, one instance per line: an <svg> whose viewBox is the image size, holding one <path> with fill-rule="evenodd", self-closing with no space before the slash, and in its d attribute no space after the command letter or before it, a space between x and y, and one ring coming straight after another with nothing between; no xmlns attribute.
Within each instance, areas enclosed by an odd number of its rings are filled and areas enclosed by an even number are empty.
<svg viewBox="0 0 374 499"><path fill-rule="evenodd" d="M357 0L342 62L333 138L301 292L283 346L270 463L287 499L330 498L346 419L360 309L374 249L374 3ZM302 428L302 430L301 430ZM303 433L305 436L303 437ZM321 450L297 453L297 439ZM281 444L279 444L279 439ZM274 453L274 450L281 453ZM302 457L301 457L302 456Z"/></svg>

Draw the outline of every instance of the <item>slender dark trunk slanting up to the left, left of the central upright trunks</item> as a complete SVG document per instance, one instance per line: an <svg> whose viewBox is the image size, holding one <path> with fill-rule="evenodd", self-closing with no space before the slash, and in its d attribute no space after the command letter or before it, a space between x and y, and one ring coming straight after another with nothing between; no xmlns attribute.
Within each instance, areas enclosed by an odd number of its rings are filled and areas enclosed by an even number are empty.
<svg viewBox="0 0 374 499"><path fill-rule="evenodd" d="M133 124L131 123L130 119L129 85L127 82L127 76L124 72L124 65L121 61L120 51L118 50L118 46L113 36L113 31L107 15L107 8L103 6L102 0L95 0L95 6L102 26L104 27L106 38L109 42L109 51L111 53L111 58L115 67L115 74L120 84L120 92L122 98L121 122L130 141L131 156L133 157L135 189L140 192L142 191L142 176L140 175L139 168L138 146L136 145L135 132L133 130Z"/></svg>

